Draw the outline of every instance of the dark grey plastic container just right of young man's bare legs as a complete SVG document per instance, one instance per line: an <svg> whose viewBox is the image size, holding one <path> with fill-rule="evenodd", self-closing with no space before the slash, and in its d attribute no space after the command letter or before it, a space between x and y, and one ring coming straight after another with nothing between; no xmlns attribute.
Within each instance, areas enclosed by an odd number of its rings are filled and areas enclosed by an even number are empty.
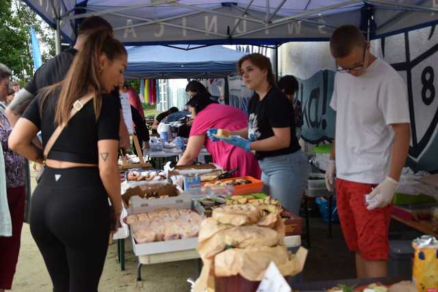
<svg viewBox="0 0 438 292"><path fill-rule="evenodd" d="M388 277L411 278L413 253L411 240L389 241Z"/></svg>

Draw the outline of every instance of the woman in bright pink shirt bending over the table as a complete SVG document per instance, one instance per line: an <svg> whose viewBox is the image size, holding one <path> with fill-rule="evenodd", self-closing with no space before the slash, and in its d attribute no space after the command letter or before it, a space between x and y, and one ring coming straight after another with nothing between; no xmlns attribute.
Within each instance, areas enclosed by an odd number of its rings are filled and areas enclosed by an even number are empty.
<svg viewBox="0 0 438 292"><path fill-rule="evenodd" d="M213 157L213 162L224 170L237 168L233 176L253 176L260 178L261 170L253 153L224 142L211 142L207 139L210 128L237 131L247 126L248 117L243 111L229 105L220 105L210 98L208 92L194 95L187 103L194 118L190 138L183 157L178 165L192 164L198 157L202 146Z"/></svg>

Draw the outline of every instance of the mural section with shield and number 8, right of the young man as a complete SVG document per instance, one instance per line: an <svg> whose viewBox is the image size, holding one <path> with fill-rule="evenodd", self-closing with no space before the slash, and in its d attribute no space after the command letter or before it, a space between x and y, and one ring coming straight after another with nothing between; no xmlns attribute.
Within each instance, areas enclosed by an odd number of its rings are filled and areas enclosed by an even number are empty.
<svg viewBox="0 0 438 292"><path fill-rule="evenodd" d="M407 83L412 135L407 164L438 170L438 33L435 27L405 33L398 44L404 44L402 53L391 57L391 65ZM381 40L385 59L391 45L391 39Z"/></svg>

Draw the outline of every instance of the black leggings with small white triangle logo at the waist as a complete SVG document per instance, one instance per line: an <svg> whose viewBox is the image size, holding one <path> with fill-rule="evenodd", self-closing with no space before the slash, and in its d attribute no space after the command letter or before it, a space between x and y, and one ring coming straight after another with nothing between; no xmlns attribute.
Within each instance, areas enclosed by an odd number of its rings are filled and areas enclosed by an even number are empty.
<svg viewBox="0 0 438 292"><path fill-rule="evenodd" d="M31 201L30 230L53 292L96 292L110 237L98 168L46 168Z"/></svg>

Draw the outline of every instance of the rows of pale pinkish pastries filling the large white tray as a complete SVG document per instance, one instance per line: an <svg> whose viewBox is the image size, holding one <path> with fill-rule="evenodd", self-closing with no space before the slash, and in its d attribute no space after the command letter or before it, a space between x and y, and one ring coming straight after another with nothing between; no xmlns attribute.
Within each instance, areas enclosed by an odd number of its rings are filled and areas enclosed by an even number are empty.
<svg viewBox="0 0 438 292"><path fill-rule="evenodd" d="M127 223L137 243L197 237L203 218L189 209L166 209L129 215Z"/></svg>

